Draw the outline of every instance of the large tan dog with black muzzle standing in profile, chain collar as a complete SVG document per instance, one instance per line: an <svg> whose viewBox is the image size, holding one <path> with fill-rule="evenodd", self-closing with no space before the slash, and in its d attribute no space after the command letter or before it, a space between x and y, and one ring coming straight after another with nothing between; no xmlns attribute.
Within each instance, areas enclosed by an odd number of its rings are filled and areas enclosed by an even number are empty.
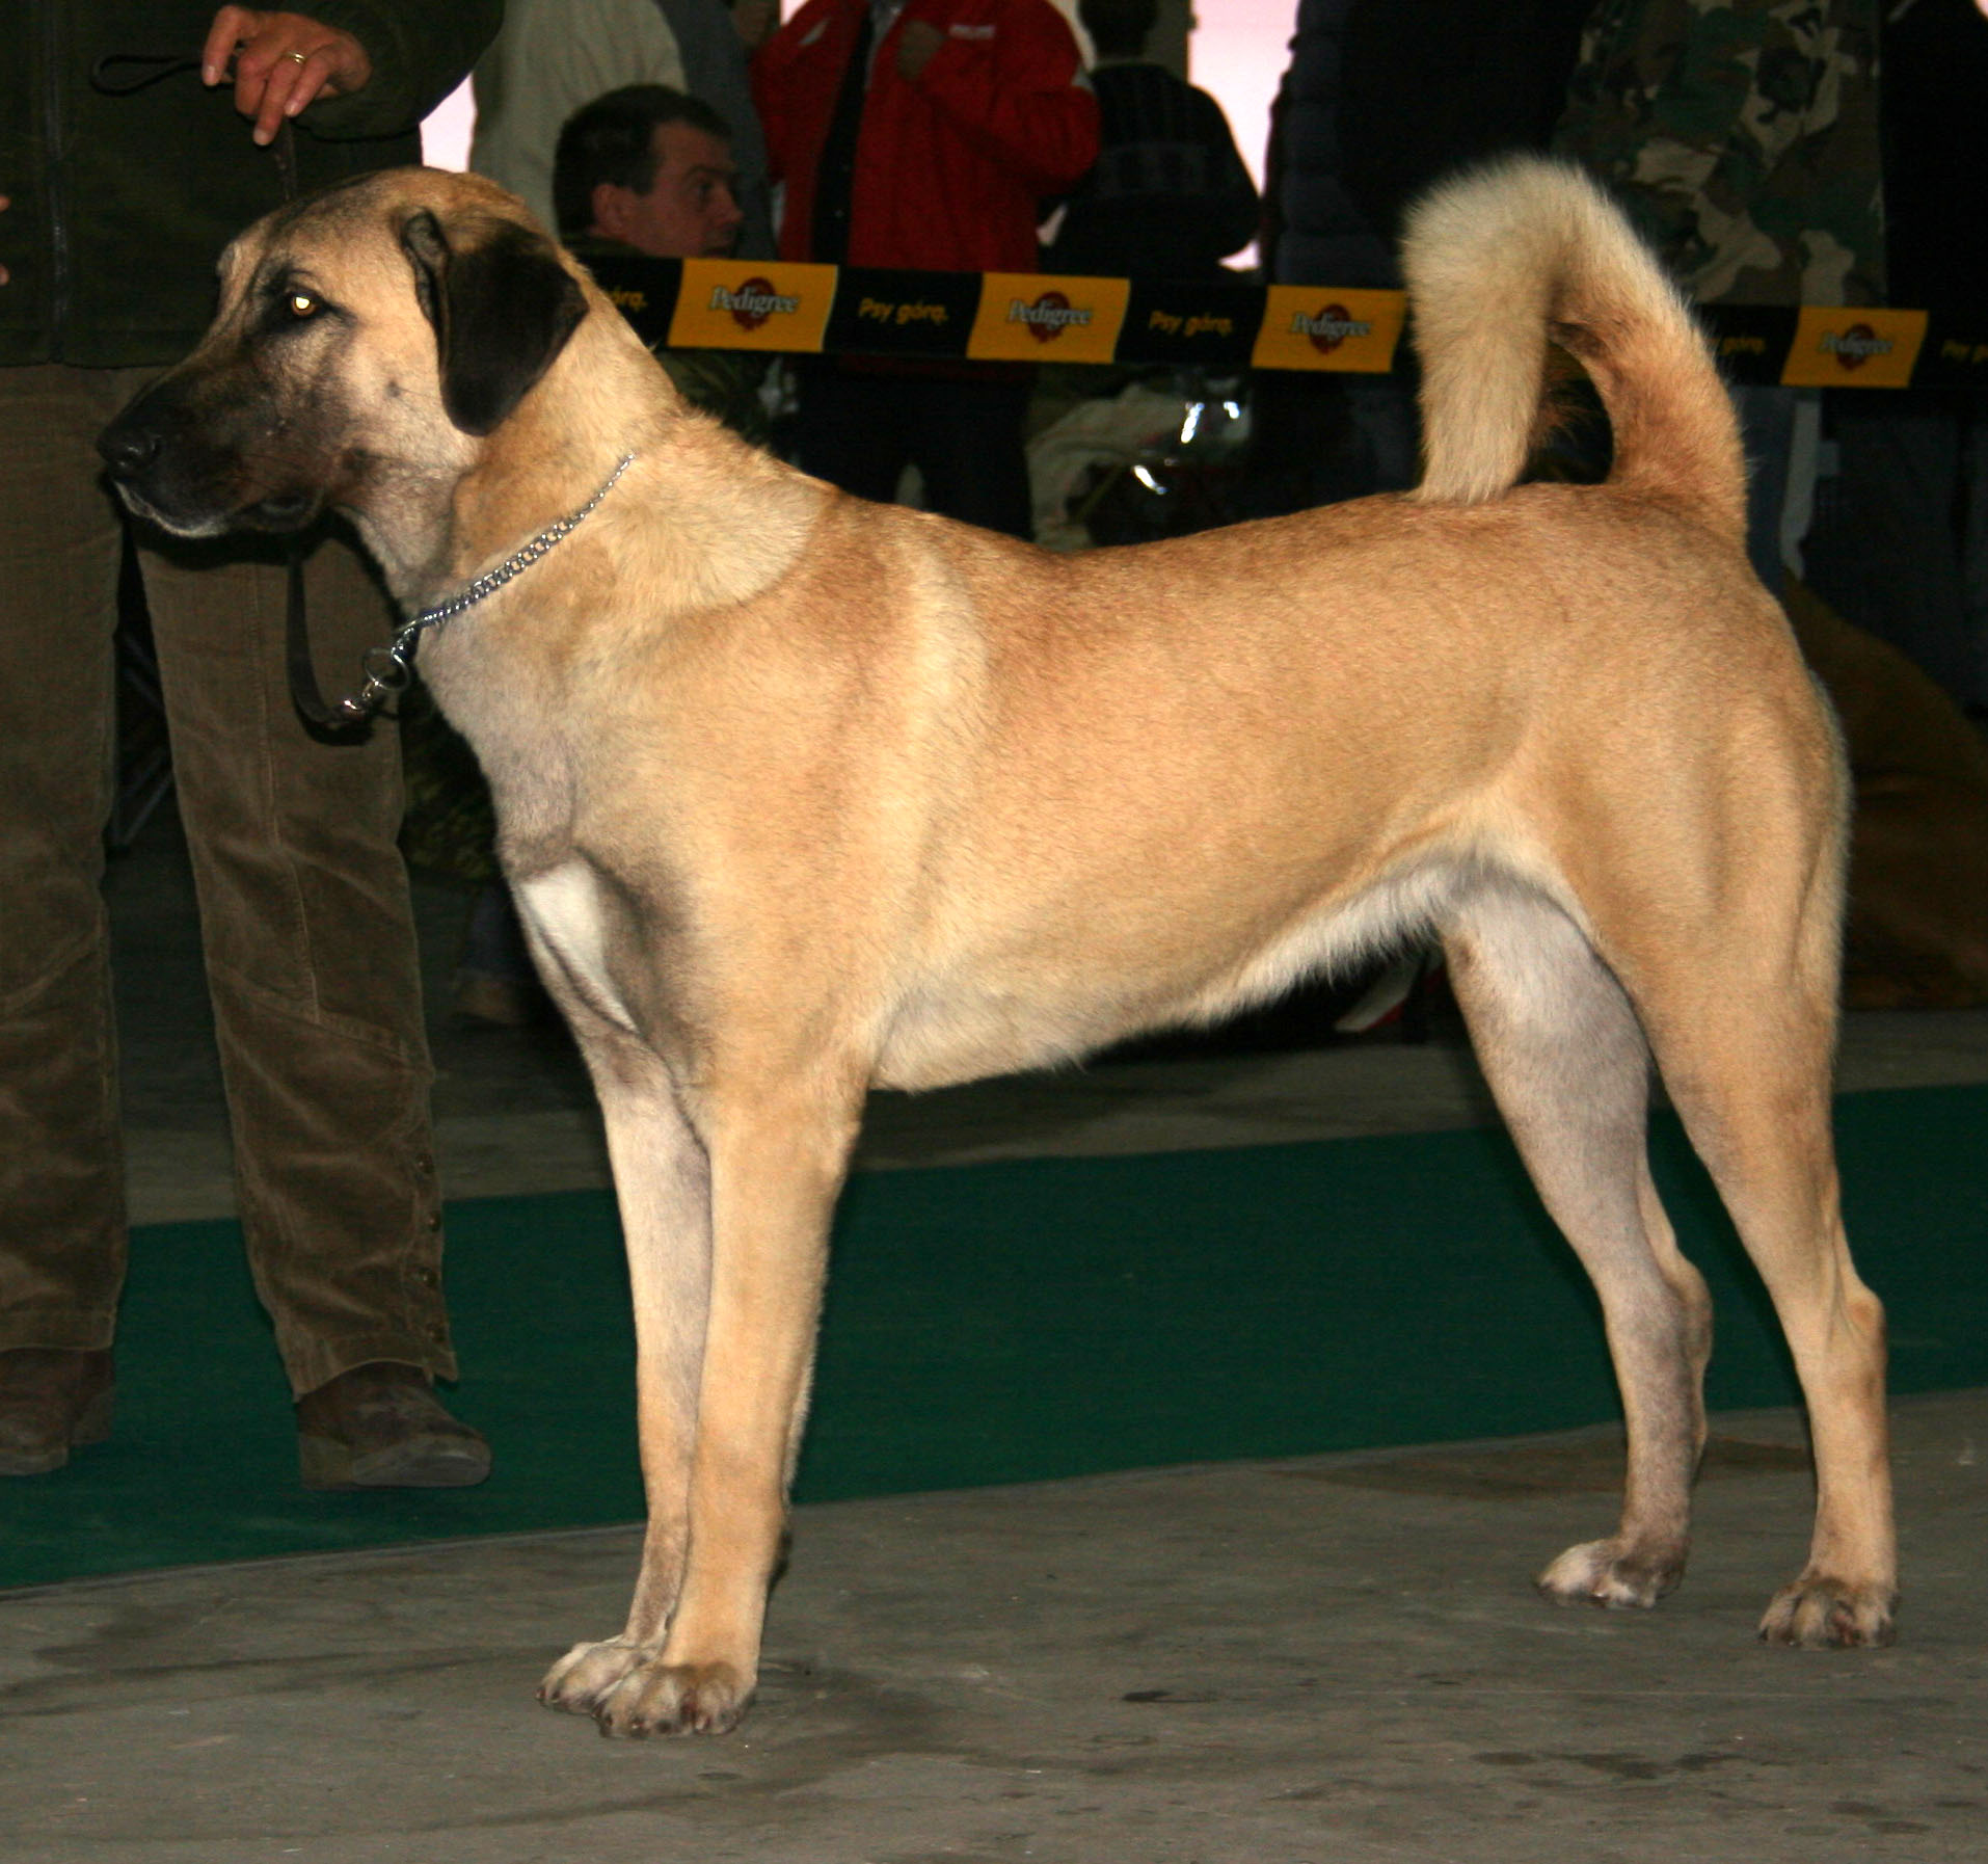
<svg viewBox="0 0 1988 1864"><path fill-rule="evenodd" d="M1726 394L1571 171L1439 193L1408 269L1415 493L1074 559L740 444L517 201L429 171L243 235L209 336L105 434L177 531L348 511L410 611L608 487L421 658L598 1084L634 1281L642 1574L543 1701L744 1711L867 1088L1427 927L1628 1414L1618 1530L1541 1585L1648 1605L1684 1570L1710 1305L1644 1160L1654 1052L1811 1410L1815 1540L1763 1635L1891 1635L1883 1315L1829 1136L1843 770L1747 571ZM1549 336L1614 418L1606 485L1513 489Z"/></svg>

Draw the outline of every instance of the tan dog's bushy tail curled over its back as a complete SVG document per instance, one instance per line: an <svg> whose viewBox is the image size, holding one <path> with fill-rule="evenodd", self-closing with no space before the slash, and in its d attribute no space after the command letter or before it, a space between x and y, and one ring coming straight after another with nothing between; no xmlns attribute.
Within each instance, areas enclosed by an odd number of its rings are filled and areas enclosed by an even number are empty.
<svg viewBox="0 0 1988 1864"><path fill-rule="evenodd" d="M1402 271L1421 356L1417 499L1473 505L1519 481L1555 342L1608 410L1608 483L1745 535L1745 456L1706 338L1580 169L1521 155L1439 185L1408 219Z"/></svg>

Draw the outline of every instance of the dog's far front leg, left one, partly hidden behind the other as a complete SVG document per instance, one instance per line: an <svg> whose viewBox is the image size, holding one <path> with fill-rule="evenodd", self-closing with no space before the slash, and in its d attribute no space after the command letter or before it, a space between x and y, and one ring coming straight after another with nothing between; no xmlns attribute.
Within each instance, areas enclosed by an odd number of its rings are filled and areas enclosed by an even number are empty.
<svg viewBox="0 0 1988 1864"><path fill-rule="evenodd" d="M620 1637L577 1643L539 1685L549 1709L592 1715L662 1649L690 1550L690 1458L710 1309L712 1198L704 1144L662 1066L616 1052L575 1017L600 1094L634 1293L636 1414L648 1536Z"/></svg>

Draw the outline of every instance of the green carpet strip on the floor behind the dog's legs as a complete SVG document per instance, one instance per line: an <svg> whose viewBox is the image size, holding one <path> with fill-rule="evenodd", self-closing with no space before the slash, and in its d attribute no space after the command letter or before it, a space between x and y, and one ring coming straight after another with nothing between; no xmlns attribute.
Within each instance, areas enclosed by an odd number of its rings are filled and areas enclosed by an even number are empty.
<svg viewBox="0 0 1988 1864"><path fill-rule="evenodd" d="M1988 1086L1845 1096L1851 1237L1893 1389L1988 1383ZM1718 1408L1793 1383L1674 1122L1658 1180L1720 1315ZM497 1474L312 1496L233 1223L139 1231L115 1438L0 1488L0 1585L569 1528L642 1512L634 1347L606 1194L449 1210ZM1616 1416L1594 1301L1501 1132L855 1180L799 1500L1555 1430Z"/></svg>

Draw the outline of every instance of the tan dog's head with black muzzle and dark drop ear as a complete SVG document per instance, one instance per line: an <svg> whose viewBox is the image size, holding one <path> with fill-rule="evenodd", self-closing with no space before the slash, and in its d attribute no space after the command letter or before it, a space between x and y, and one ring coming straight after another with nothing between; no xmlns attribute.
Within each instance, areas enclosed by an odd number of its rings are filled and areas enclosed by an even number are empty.
<svg viewBox="0 0 1988 1864"><path fill-rule="evenodd" d="M207 336L97 450L125 503L181 537L364 513L459 477L584 314L571 263L503 189L368 175L227 249Z"/></svg>

